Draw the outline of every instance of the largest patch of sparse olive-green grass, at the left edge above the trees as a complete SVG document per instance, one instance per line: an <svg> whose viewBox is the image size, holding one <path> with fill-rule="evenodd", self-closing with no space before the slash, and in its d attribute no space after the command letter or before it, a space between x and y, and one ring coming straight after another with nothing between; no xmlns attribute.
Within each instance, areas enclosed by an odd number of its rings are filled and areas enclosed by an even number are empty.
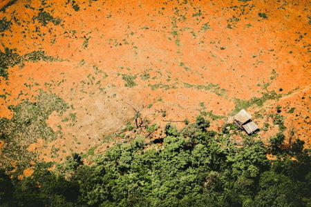
<svg viewBox="0 0 311 207"><path fill-rule="evenodd" d="M6 143L1 148L1 168L10 171L14 161L17 161L18 170L14 174L21 175L22 170L30 167L30 161L36 161L37 155L27 150L28 146L39 138L53 141L62 136L62 132L54 132L46 120L53 111L62 115L67 108L67 104L57 95L43 91L39 92L36 102L23 101L17 106L10 106L12 119L0 119L0 131L3 134L0 139Z"/></svg>

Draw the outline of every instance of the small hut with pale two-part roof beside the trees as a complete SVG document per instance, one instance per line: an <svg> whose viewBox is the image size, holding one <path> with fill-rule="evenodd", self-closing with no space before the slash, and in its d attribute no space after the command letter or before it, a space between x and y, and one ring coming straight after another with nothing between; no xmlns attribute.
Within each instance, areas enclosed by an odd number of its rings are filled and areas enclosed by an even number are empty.
<svg viewBox="0 0 311 207"><path fill-rule="evenodd" d="M259 130L258 126L252 121L252 116L249 115L245 109L240 110L240 112L234 116L234 122L241 129L245 130L247 135L252 135Z"/></svg>

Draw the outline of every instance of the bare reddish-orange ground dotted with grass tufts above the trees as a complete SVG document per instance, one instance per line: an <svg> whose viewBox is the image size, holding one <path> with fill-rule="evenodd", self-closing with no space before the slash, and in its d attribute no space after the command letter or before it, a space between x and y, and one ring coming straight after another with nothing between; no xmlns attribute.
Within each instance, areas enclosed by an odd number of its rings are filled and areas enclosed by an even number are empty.
<svg viewBox="0 0 311 207"><path fill-rule="evenodd" d="M11 172L162 136L132 130L135 110L148 126L201 114L220 131L245 108L256 139L281 130L285 145L310 148L310 1L0 6L0 164Z"/></svg>

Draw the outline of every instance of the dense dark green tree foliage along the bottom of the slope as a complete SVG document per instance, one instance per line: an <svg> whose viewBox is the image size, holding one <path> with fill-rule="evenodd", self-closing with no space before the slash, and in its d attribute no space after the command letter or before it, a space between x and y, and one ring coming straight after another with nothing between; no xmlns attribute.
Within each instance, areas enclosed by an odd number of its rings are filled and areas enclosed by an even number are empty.
<svg viewBox="0 0 311 207"><path fill-rule="evenodd" d="M147 148L137 138L91 166L74 154L60 174L38 166L18 181L0 172L0 206L311 205L310 151L303 141L281 150L280 134L270 148L254 139L236 147L208 127L202 117L182 130L168 124L162 146ZM278 159L267 159L271 150Z"/></svg>

